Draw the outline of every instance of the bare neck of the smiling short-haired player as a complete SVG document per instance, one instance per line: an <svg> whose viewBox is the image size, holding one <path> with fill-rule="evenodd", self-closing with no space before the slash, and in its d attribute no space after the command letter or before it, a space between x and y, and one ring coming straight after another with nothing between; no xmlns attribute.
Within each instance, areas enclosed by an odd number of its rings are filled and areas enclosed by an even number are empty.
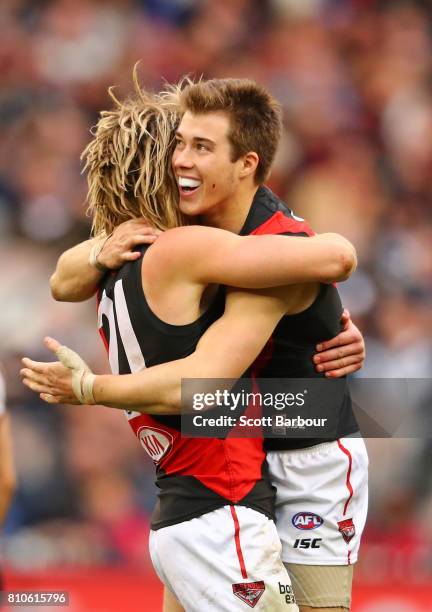
<svg viewBox="0 0 432 612"><path fill-rule="evenodd" d="M239 190L229 200L221 202L203 215L201 222L209 227L217 227L238 234L246 221L257 190L257 185Z"/></svg>

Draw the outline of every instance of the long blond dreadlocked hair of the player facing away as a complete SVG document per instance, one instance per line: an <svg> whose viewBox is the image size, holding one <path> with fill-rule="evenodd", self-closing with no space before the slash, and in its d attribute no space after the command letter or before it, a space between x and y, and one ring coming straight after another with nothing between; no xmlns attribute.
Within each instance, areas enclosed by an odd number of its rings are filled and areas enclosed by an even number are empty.
<svg viewBox="0 0 432 612"><path fill-rule="evenodd" d="M129 219L145 217L165 230L187 224L178 208L171 168L178 125L176 90L171 96L145 91L133 73L134 93L102 111L93 139L82 154L88 181L93 234L109 234Z"/></svg>

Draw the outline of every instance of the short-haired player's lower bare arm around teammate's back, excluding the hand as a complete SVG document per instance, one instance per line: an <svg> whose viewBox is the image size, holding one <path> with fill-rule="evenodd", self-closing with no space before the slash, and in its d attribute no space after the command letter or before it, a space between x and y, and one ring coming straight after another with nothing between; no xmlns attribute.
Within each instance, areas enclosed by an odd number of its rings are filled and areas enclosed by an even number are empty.
<svg viewBox="0 0 432 612"><path fill-rule="evenodd" d="M150 414L157 405L167 414L180 413L181 379L237 379L255 361L287 312L286 293L285 288L230 290L224 315L202 336L194 353L138 374L97 376L95 402Z"/></svg>

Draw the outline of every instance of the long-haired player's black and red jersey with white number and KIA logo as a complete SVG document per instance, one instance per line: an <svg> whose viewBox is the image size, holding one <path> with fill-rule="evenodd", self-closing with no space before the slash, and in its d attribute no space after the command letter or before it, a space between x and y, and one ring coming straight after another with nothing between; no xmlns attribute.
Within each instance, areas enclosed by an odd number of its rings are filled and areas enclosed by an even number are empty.
<svg viewBox="0 0 432 612"><path fill-rule="evenodd" d="M181 359L193 353L224 310L224 290L194 323L170 325L150 309L141 280L141 257L107 274L98 292L98 324L117 374ZM128 412L128 421L156 465L158 503L152 529L239 504L273 517L274 490L266 474L262 439L182 438L179 415Z"/></svg>

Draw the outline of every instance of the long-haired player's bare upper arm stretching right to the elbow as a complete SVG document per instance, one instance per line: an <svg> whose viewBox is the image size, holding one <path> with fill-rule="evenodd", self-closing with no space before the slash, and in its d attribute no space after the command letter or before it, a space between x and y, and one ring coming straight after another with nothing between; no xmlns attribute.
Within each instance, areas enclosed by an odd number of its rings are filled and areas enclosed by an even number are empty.
<svg viewBox="0 0 432 612"><path fill-rule="evenodd" d="M313 237L238 236L204 226L165 232L149 249L149 277L161 267L167 283L188 279L243 289L331 283L349 278L357 264L353 245L339 234ZM156 272L154 272L156 274ZM160 275L157 276L160 278Z"/></svg>

